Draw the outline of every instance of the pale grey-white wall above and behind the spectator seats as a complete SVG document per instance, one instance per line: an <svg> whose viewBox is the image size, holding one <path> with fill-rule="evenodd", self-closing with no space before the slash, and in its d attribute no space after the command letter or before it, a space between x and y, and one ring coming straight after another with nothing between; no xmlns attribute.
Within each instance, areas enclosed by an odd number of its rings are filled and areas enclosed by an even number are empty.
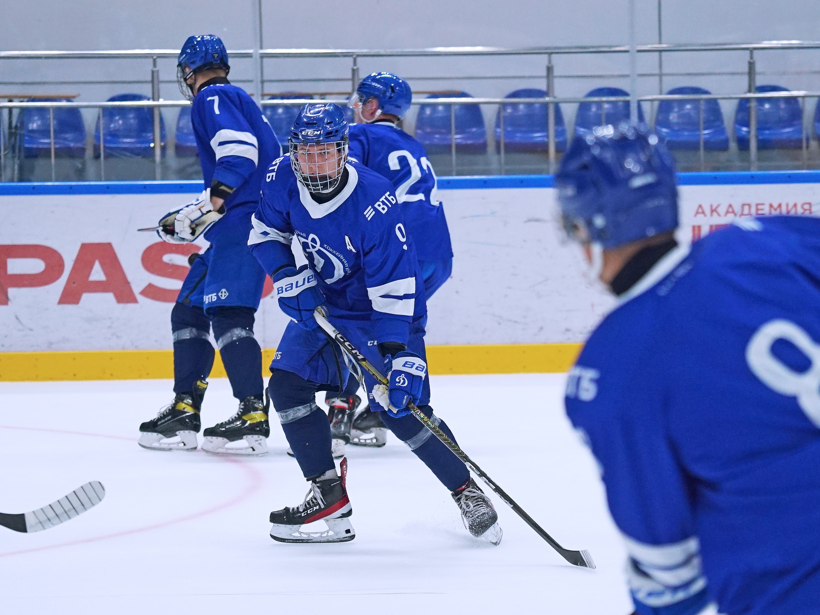
<svg viewBox="0 0 820 615"><path fill-rule="evenodd" d="M656 0L636 0L640 9L641 43L658 39ZM27 0L5 2L0 21L0 46L26 49L180 48L189 34L219 34L229 48L252 45L252 0ZM568 44L626 43L626 0L417 0L416 2L281 2L262 0L266 47L271 48L419 48L449 45L528 47ZM663 2L663 39L667 43L749 42L766 39L820 39L820 3L817 0L690 0ZM763 52L760 71L813 71L820 52ZM667 54L665 68L700 71L704 68L745 71L745 53ZM626 56L558 57L558 75L594 75L626 72ZM367 71L390 70L408 77L435 75L543 75L544 57L462 57L450 59L365 58ZM80 93L82 99L107 98L123 91L149 92L150 63L146 60L2 61L5 90ZM162 62L162 76L172 79L174 62ZM235 62L235 77L249 78L249 61ZM640 70L654 70L656 57L641 57ZM345 90L348 60L267 61L268 78L340 79L303 84L311 91ZM43 88L9 82L35 80L144 80L144 84L71 85ZM765 76L759 83L776 81L794 89L820 89L818 75ZM544 87L544 80L423 80L416 89L463 88L474 95L503 95L517 87ZM738 92L745 77L681 76L667 80L666 88L701 84L718 93ZM626 86L625 79L559 79L558 93L575 95L601 84ZM641 80L641 93L654 93L656 78ZM271 84L269 91L299 89L298 84ZM166 84L164 98L177 98Z"/></svg>

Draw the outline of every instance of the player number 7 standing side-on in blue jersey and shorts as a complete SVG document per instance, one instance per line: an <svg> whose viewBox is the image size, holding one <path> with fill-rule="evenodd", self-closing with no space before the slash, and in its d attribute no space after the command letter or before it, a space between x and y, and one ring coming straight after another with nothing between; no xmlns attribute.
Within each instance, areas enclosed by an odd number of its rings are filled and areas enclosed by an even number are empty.
<svg viewBox="0 0 820 615"><path fill-rule="evenodd" d="M253 323L265 271L247 243L259 187L281 148L253 99L228 81L228 54L219 38L186 40L178 69L180 89L193 99L191 123L207 189L165 216L157 235L178 243L204 234L210 246L193 260L171 310L174 400L139 427L139 444L156 450L197 448L200 404L214 360L208 339L213 330L239 410L204 431L203 449L264 454L270 428ZM240 440L247 444L228 446Z"/></svg>

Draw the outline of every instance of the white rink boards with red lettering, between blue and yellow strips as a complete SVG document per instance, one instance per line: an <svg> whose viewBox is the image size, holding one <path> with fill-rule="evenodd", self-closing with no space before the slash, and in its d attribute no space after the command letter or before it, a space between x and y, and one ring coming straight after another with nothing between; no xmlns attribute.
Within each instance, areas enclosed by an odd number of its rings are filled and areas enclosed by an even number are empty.
<svg viewBox="0 0 820 615"><path fill-rule="evenodd" d="M554 196L554 189L441 191L455 259L453 277L430 300L428 344L585 339L613 299L585 283L579 248L563 242L558 232ZM170 348L173 289L180 281L151 273L162 273L163 265L157 254L146 253L149 246L164 250L170 244L135 231L155 224L185 198L0 197L0 352ZM736 216L820 215L818 202L820 184L681 186L679 238L706 235ZM47 246L37 249L50 253L50 262L21 258L19 252L9 257L19 244ZM100 251L93 244L107 247ZM98 260L89 257L89 249ZM84 258L78 257L81 250ZM163 260L185 264L179 254ZM7 274L44 269L51 274L11 280L12 286L28 280L27 287L2 288ZM148 285L169 292L162 296ZM87 292L72 294L72 288ZM276 347L286 323L276 301L262 299L256 334L263 348Z"/></svg>

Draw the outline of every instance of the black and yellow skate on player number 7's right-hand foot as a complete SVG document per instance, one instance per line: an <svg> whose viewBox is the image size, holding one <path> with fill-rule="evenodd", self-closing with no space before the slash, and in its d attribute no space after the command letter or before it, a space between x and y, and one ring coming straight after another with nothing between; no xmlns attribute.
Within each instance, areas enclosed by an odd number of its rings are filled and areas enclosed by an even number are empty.
<svg viewBox="0 0 820 615"><path fill-rule="evenodd" d="M264 455L267 453L267 436L271 426L267 411L271 399L262 401L262 395L252 395L239 402L239 410L227 421L216 423L203 431L203 451L225 455ZM228 446L230 442L244 440L245 446Z"/></svg>

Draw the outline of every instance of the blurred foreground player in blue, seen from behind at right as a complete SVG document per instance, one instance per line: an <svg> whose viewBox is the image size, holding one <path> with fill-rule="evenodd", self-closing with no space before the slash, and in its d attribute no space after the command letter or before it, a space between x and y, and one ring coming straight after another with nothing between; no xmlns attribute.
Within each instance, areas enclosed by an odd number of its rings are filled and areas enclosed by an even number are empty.
<svg viewBox="0 0 820 615"><path fill-rule="evenodd" d="M820 220L740 217L678 246L645 127L576 138L564 228L618 304L567 414L626 540L635 613L820 611Z"/></svg>

